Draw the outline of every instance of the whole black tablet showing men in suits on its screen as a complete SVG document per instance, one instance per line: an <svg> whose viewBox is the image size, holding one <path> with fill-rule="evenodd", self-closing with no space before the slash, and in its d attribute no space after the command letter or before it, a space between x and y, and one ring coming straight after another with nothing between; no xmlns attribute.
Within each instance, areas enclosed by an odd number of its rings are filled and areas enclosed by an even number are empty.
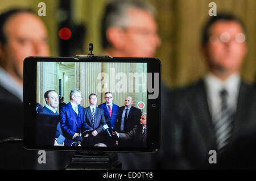
<svg viewBox="0 0 256 181"><path fill-rule="evenodd" d="M157 58L27 57L24 147L157 151L160 78Z"/></svg>

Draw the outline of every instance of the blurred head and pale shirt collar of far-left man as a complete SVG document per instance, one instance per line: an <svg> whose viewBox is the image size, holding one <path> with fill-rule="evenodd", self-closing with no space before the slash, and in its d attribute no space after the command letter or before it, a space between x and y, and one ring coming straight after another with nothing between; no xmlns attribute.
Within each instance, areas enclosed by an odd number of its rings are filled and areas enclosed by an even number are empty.
<svg viewBox="0 0 256 181"><path fill-rule="evenodd" d="M8 99L22 101L23 60L28 56L49 56L46 27L30 10L7 11L0 18L0 84Z"/></svg>

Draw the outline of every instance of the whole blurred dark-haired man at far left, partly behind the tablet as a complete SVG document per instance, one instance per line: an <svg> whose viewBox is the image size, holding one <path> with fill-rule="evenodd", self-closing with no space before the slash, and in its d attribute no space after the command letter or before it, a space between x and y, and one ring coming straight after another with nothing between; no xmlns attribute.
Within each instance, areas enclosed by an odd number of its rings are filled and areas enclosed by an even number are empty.
<svg viewBox="0 0 256 181"><path fill-rule="evenodd" d="M4 12L0 15L0 138L23 137L23 60L28 56L49 56L44 23L31 10ZM39 164L38 151L25 150L22 142L1 145L0 152L1 169L64 169L68 163L46 151L47 163Z"/></svg>

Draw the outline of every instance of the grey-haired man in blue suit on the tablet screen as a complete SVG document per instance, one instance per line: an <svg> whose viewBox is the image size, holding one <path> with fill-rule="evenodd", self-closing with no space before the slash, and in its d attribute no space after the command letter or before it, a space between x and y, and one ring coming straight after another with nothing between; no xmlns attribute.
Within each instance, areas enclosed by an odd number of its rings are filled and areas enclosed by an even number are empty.
<svg viewBox="0 0 256 181"><path fill-rule="evenodd" d="M60 110L60 127L66 138L64 144L70 146L76 137L81 136L81 133L86 130L86 122L84 109L79 106L82 100L81 91L73 89L69 97L70 102Z"/></svg>

